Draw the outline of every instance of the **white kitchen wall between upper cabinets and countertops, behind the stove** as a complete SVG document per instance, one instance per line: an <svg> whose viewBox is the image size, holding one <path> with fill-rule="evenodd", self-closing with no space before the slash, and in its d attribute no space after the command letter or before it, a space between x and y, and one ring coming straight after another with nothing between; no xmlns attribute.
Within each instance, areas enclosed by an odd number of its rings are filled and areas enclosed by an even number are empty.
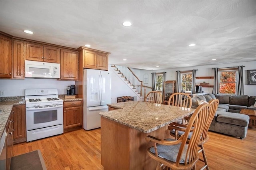
<svg viewBox="0 0 256 170"><path fill-rule="evenodd" d="M58 89L59 95L66 94L67 87L74 85L74 81L60 81L56 79L0 79L0 91L4 96L24 96L25 89Z"/></svg>

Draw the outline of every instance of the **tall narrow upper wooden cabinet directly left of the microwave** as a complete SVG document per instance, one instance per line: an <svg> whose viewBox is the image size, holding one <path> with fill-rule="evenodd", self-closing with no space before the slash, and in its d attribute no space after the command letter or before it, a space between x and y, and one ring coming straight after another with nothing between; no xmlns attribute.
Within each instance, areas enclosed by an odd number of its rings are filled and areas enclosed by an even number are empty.
<svg viewBox="0 0 256 170"><path fill-rule="evenodd" d="M25 72L25 58L24 58L24 51L25 43L22 41L14 40L12 42L12 59L13 59L13 66L12 66L12 78L14 79L24 79L24 72Z"/></svg>

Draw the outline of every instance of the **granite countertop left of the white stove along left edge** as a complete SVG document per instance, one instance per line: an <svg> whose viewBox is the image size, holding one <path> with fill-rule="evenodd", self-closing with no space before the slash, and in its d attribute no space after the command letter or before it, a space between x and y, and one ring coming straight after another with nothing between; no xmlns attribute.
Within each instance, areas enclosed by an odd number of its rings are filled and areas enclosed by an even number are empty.
<svg viewBox="0 0 256 170"><path fill-rule="evenodd" d="M13 105L24 105L20 100L0 102L0 136L4 133L4 128L12 111Z"/></svg>

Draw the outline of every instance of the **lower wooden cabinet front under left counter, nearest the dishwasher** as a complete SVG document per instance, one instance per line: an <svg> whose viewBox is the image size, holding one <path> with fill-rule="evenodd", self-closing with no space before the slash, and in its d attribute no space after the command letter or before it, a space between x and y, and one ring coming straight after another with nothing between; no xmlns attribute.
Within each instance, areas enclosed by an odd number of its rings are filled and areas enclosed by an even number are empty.
<svg viewBox="0 0 256 170"><path fill-rule="evenodd" d="M13 111L12 111L13 113ZM8 123L6 124L6 170L10 169L10 164L11 164L11 158L12 158L12 146L13 146L13 114L10 114Z"/></svg>

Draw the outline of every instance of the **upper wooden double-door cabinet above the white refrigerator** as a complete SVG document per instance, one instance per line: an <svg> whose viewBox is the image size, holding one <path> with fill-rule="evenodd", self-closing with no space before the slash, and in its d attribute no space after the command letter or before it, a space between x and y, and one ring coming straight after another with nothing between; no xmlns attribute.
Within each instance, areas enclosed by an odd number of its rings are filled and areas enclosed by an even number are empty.
<svg viewBox="0 0 256 170"><path fill-rule="evenodd" d="M80 47L78 49L79 61L82 60L83 68L108 70L108 52Z"/></svg>

